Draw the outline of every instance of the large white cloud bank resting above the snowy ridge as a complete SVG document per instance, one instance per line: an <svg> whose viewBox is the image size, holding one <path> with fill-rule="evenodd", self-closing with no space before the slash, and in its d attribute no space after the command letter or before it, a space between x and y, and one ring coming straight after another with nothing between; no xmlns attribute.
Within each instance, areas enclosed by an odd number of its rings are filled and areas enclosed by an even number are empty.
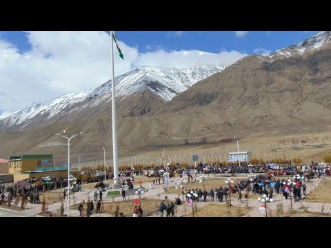
<svg viewBox="0 0 331 248"><path fill-rule="evenodd" d="M70 92L92 89L108 81L110 37L106 32L26 32L32 49L23 54L0 39L0 110L4 113L49 101ZM120 39L120 37L118 37ZM247 54L197 50L139 53L119 41L124 60L114 49L115 74L139 65L188 67L233 63ZM150 46L150 48L153 48Z"/></svg>

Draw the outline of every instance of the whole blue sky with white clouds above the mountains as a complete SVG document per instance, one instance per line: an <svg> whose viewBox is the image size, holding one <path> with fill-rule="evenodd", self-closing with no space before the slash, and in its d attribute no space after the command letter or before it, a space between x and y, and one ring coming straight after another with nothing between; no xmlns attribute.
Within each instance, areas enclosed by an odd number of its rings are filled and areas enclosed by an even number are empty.
<svg viewBox="0 0 331 248"><path fill-rule="evenodd" d="M268 55L315 31L118 31L124 54L115 74L141 65L230 65ZM117 52L117 51L115 51ZM0 116L98 87L111 77L110 36L103 31L0 31Z"/></svg>

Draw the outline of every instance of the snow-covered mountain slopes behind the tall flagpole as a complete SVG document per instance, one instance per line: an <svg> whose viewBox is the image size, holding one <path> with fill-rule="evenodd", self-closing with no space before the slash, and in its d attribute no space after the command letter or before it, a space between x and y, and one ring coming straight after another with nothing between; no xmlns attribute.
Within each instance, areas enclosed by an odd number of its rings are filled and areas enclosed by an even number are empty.
<svg viewBox="0 0 331 248"><path fill-rule="evenodd" d="M142 66L116 77L116 96L117 99L123 101L127 96L134 96L148 90L159 96L162 101L170 101L194 83L221 72L225 67L226 65L197 65L192 68L165 69ZM14 127L10 130L23 130L36 123L37 118L39 124L46 124L51 118L57 121L72 121L79 118L83 110L85 112L101 111L111 103L111 86L112 82L108 81L93 90L67 94L47 103L39 103L24 110L0 116L0 126Z"/></svg>

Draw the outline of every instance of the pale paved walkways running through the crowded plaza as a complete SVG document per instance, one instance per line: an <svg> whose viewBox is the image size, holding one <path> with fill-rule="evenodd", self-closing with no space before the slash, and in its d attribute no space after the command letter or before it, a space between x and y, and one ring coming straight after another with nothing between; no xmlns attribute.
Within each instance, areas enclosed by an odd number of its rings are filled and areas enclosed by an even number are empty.
<svg viewBox="0 0 331 248"><path fill-rule="evenodd" d="M210 178L224 178L225 175L214 175L214 174L210 174ZM226 175L228 176L228 175ZM242 175L236 175L236 178L247 178L247 174L242 174ZM198 176L193 176L193 178L196 178L197 180L199 180L199 174ZM137 180L139 180L139 177L136 177ZM174 178L174 180L172 180L170 182L170 187L173 187L174 184L176 182L178 182L179 178ZM206 178L207 180L207 178ZM312 180L312 183L305 183L305 185L307 185L307 189L306 192L307 194L309 194L310 191L312 191L312 189L314 189L315 187L317 187L317 185L319 185L319 183L321 182L322 179L320 178L316 178L314 180ZM94 185L95 183L92 183L92 185ZM143 196L141 196L142 198L158 198L158 199L165 199L165 196L167 196L168 199L170 200L174 200L175 198L178 197L177 194L167 194L164 191L164 185L152 185L152 189L149 188L149 182L143 183L142 185L143 187L147 188L148 191L144 192ZM121 190L121 189L119 189ZM63 192L63 189L57 189L57 192ZM121 202L122 198L121 197L110 197L107 196L108 192L110 191L114 191L114 189L108 189L106 190L106 192L103 192L103 203L111 203L111 202ZM70 206L74 205L74 203L78 204L81 203L83 200L85 200L85 202L88 201L88 199L92 200L93 199L93 195L94 195L94 189L83 189L82 192L75 192L74 195L70 196ZM98 197L99 198L99 197ZM126 200L134 200L137 198L137 195L133 195L133 196L126 196ZM217 204L226 204L225 201L223 201L223 203L218 203L218 202L211 202L208 201L206 203L202 202L202 203L198 203L199 207L203 207L205 205L208 205L210 203L217 203ZM282 203L283 204L283 209L284 212L290 211L291 209L291 203L290 203L290 199L285 200L285 198L283 197L283 194L275 194L274 193L274 203L268 203L267 205L267 210L268 212L272 215L275 216L275 214L277 213L277 205L278 203ZM64 214L67 214L67 207L68 207L68 201L67 199L64 200L63 202L64 204ZM183 216L184 212L186 210L187 212L187 207L185 208L184 205L186 205L186 203L184 203L183 205L179 205L177 207L177 209L175 210L175 214L176 216ZM263 217L265 216L265 213L259 211L259 207L261 207L262 203L260 203L257 199L248 199L248 204L245 202L245 200L243 200L243 202L238 202L237 201L237 194L234 194L233 198L232 198L232 205L234 206L238 206L238 207L245 207L245 206L249 206L252 207L252 210L245 215L245 217ZM57 216L57 212L59 211L60 207L61 207L61 203L54 203L51 205L47 205L48 207L48 212L52 212L52 216ZM294 211L297 211L299 209L301 209L302 207L305 207L306 211L314 211L314 212L320 212L323 210L323 213L325 214L331 214L331 204L326 204L326 203L306 203L304 201L299 201L299 202L294 202L294 200L292 200L292 208L294 209ZM86 206L84 206L84 208L86 208ZM94 209L96 209L95 203L94 203ZM95 211L95 210L94 210ZM3 216L39 216L39 214L41 213L41 204L30 204L28 203L28 205L26 205L26 209L24 209L23 211L14 211L12 209L3 209L0 207L0 217ZM269 214L269 215L270 215ZM72 217L79 217L79 211L77 209L70 209L70 216ZM92 216L90 217L111 217L110 214L92 214ZM149 217L159 217L159 214L154 214L152 216Z"/></svg>

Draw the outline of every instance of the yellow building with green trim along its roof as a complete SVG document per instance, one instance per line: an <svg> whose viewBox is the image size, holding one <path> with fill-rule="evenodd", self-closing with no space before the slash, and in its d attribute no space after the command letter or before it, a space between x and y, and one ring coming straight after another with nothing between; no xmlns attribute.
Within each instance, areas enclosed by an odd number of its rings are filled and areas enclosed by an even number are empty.
<svg viewBox="0 0 331 248"><path fill-rule="evenodd" d="M34 171L39 167L52 167L53 165L53 155L50 154L9 157L10 174L25 174L26 171Z"/></svg>

